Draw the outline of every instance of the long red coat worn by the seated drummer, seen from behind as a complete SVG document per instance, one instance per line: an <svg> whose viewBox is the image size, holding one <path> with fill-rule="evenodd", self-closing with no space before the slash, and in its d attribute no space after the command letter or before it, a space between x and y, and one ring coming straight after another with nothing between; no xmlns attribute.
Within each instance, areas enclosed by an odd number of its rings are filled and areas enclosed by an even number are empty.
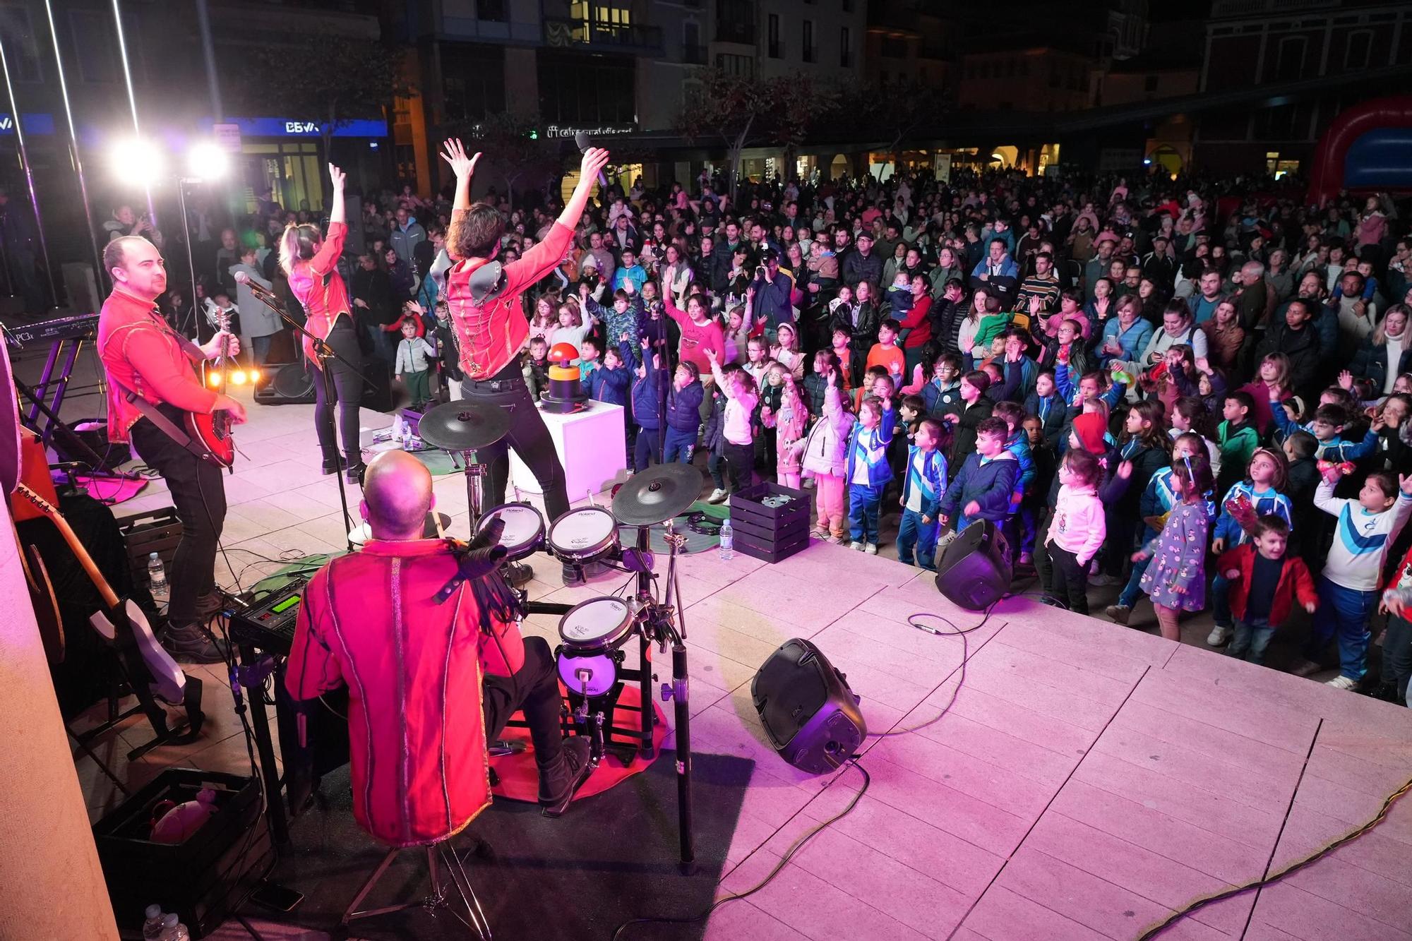
<svg viewBox="0 0 1412 941"><path fill-rule="evenodd" d="M490 805L481 675L524 665L515 623L481 632L466 585L435 602L455 572L442 540L370 540L309 581L295 626L285 688L347 685L353 817L393 846L445 839Z"/></svg>

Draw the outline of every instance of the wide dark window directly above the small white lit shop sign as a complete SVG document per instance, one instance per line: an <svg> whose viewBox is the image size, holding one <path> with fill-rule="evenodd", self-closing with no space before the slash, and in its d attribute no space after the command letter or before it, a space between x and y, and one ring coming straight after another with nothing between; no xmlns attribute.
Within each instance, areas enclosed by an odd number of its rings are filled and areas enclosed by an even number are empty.
<svg viewBox="0 0 1412 941"><path fill-rule="evenodd" d="M558 124L637 122L637 69L633 59L541 49L539 114Z"/></svg>

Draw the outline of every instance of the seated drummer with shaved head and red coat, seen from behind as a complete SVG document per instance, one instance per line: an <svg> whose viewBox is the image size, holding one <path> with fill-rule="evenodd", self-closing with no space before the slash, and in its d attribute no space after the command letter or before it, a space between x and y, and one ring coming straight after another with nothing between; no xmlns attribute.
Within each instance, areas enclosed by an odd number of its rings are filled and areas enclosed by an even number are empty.
<svg viewBox="0 0 1412 941"><path fill-rule="evenodd" d="M463 582L435 602L457 558L453 544L422 538L431 506L421 461L387 451L369 463L359 509L373 538L311 579L285 673L297 701L349 687L353 814L398 846L445 839L489 805L486 743L517 709L546 817L563 814L593 770L586 738L561 739L554 656L542 637L520 636L504 584ZM477 702L483 725L465 721Z"/></svg>

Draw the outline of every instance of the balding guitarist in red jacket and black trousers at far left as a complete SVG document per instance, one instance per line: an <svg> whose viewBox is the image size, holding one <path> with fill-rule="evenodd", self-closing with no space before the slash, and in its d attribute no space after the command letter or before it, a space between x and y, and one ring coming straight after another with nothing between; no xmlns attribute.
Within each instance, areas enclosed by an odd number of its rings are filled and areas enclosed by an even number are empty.
<svg viewBox="0 0 1412 941"><path fill-rule="evenodd" d="M186 411L225 410L236 424L246 420L239 401L206 389L192 367L215 359L222 341L229 355L239 353L240 341L217 333L196 346L167 325L157 309L157 298L167 291L167 270L157 246L147 239L124 236L109 242L103 267L113 277L113 292L97 322L97 352L109 379L109 439L130 441L141 459L162 475L182 524L162 644L176 657L216 663L222 651L203 627L219 606L216 543L226 520L226 487L220 466L198 456L172 432L185 437L181 425Z"/></svg>

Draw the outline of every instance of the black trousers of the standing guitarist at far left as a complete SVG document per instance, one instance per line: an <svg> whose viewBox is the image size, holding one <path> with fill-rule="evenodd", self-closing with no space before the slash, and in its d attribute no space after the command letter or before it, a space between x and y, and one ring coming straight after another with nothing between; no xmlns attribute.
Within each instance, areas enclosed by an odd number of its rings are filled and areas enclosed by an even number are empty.
<svg viewBox="0 0 1412 941"><path fill-rule="evenodd" d="M182 413L160 406L161 413L181 427ZM168 575L171 602L167 620L175 626L196 623L198 599L216 588L216 543L226 523L226 485L220 468L203 461L143 418L131 430L133 448L147 466L162 475L171 493L181 541Z"/></svg>

